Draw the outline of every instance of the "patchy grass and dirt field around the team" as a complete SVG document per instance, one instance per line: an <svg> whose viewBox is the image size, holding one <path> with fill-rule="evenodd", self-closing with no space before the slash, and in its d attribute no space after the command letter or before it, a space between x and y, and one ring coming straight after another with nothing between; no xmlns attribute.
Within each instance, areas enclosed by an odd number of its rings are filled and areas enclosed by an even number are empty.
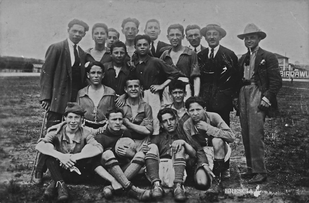
<svg viewBox="0 0 309 203"><path fill-rule="evenodd" d="M248 184L239 176L246 161L239 118L231 113L235 142L231 144L231 179L225 187L248 189L252 193L224 193L206 196L205 191L186 182L187 202L309 202L309 82L283 82L278 94L281 115L265 122L265 158L268 181ZM0 77L0 203L43 202L41 196L51 179L44 175L43 186L30 184L30 176L40 137L44 110L40 107L39 77ZM308 104L308 105L307 105ZM45 131L45 129L44 129ZM149 188L144 177L133 181ZM258 188L257 188L258 187ZM125 194L105 200L102 186L94 183L69 185L70 202L138 202ZM174 202L169 189L163 202ZM277 193L276 193L277 192ZM257 196L257 195L256 195ZM50 202L56 202L55 199Z"/></svg>

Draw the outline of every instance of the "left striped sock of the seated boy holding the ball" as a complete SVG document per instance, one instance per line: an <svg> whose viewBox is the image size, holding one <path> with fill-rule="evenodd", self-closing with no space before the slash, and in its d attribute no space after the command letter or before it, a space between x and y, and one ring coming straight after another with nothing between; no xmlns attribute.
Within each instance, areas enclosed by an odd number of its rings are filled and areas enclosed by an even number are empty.
<svg viewBox="0 0 309 203"><path fill-rule="evenodd" d="M116 158L111 158L106 160L105 167L108 172L116 178L116 180L122 185L123 188L127 189L130 186L130 181L125 177L125 174L122 172L119 163Z"/></svg>

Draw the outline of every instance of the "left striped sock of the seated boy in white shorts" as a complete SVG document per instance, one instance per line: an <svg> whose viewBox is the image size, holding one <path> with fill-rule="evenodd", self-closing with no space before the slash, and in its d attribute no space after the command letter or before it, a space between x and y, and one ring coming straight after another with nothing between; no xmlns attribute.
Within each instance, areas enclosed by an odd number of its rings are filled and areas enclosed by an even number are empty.
<svg viewBox="0 0 309 203"><path fill-rule="evenodd" d="M146 154L145 157L146 160L146 169L147 173L149 174L151 184L153 184L156 181L161 182L159 177L159 162L158 162L158 156L155 154Z"/></svg>

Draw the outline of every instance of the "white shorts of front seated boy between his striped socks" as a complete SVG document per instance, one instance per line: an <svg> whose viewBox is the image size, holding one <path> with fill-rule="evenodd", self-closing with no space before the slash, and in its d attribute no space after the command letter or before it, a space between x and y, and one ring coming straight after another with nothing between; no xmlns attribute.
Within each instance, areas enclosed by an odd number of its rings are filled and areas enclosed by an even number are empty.
<svg viewBox="0 0 309 203"><path fill-rule="evenodd" d="M151 182L150 176L145 171L147 179ZM162 186L171 188L174 185L175 171L172 159L159 159L159 178L162 181ZM184 181L187 178L187 172L184 170Z"/></svg>

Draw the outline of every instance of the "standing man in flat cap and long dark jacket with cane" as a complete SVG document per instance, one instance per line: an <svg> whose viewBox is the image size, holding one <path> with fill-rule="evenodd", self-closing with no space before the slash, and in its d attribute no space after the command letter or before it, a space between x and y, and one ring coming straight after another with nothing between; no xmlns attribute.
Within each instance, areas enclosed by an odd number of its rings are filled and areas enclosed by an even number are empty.
<svg viewBox="0 0 309 203"><path fill-rule="evenodd" d="M85 87L85 53L78 45L89 30L87 23L74 19L68 24L69 37L47 49L40 76L40 102L48 111L46 128L61 122L68 102L75 102L77 92ZM42 182L43 164L39 161L32 182Z"/></svg>

